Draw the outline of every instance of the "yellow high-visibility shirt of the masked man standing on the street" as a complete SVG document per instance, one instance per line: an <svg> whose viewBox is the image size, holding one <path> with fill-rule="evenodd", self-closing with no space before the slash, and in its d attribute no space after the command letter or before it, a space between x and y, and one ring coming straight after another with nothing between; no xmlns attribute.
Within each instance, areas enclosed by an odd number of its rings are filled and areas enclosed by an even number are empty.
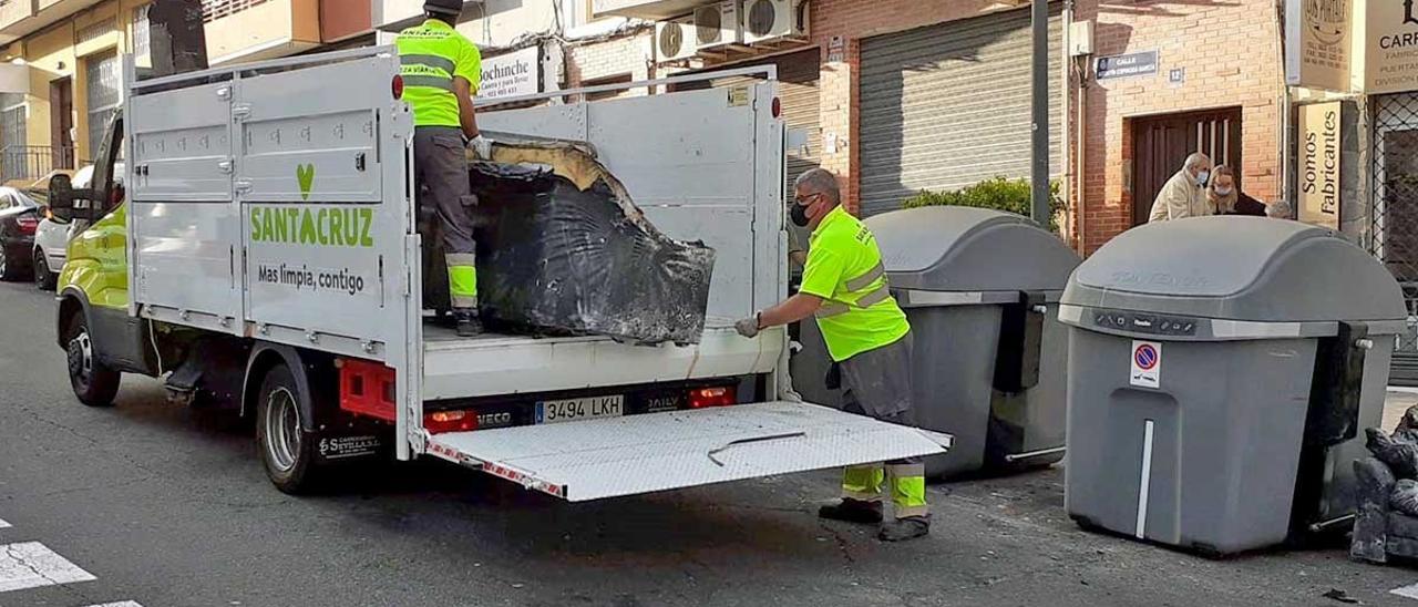
<svg viewBox="0 0 1418 607"><path fill-rule="evenodd" d="M813 230L798 292L822 298L817 326L832 360L888 346L910 330L886 285L876 237L842 207Z"/></svg>

